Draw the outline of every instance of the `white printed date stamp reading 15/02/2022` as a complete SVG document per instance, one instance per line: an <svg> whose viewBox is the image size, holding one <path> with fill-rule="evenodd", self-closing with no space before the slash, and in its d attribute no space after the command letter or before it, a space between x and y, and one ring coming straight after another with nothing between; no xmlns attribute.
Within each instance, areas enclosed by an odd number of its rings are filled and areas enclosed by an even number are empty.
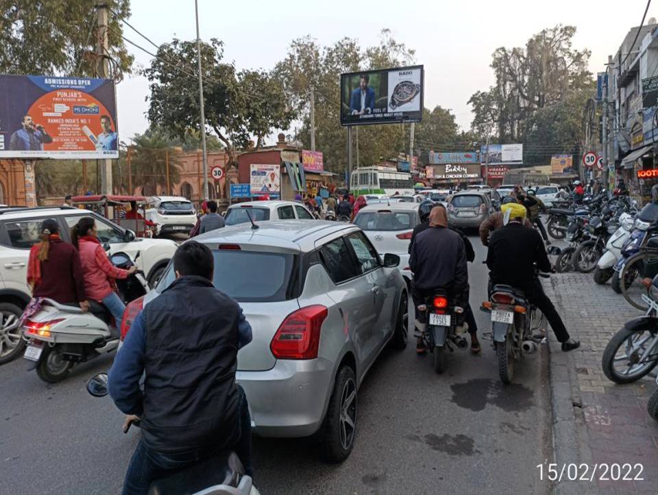
<svg viewBox="0 0 658 495"><path fill-rule="evenodd" d="M557 464L535 466L541 481L644 481L642 464Z"/></svg>

